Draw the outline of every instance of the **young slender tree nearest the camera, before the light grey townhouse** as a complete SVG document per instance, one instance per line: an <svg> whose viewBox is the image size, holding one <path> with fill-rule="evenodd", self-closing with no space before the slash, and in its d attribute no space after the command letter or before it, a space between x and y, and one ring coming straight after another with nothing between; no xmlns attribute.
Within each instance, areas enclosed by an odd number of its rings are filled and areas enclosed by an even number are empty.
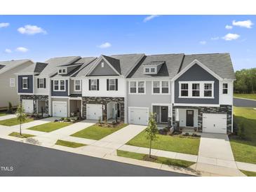
<svg viewBox="0 0 256 192"><path fill-rule="evenodd" d="M159 132L156 125L156 114L149 115L149 125L146 128L147 139L149 139L149 157L151 158L151 145L152 141L156 140L156 134Z"/></svg>

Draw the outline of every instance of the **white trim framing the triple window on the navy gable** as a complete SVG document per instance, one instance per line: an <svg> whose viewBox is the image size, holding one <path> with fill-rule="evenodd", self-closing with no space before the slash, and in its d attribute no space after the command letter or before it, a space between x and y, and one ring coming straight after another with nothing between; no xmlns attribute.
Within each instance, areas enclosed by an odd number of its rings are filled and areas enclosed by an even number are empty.
<svg viewBox="0 0 256 192"><path fill-rule="evenodd" d="M181 84L187 83L189 94L188 96L181 96ZM192 96L192 84L199 83L200 86L200 97ZM211 83L212 84L212 97L204 97L204 84ZM179 98L201 98L201 99L214 99L214 81L179 81Z"/></svg>

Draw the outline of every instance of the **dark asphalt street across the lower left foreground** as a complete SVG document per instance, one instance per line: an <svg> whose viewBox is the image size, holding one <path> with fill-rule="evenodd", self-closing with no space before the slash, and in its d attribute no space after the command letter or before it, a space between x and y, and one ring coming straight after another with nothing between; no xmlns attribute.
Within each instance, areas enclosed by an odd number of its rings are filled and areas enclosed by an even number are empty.
<svg viewBox="0 0 256 192"><path fill-rule="evenodd" d="M0 139L0 176L189 176Z"/></svg>

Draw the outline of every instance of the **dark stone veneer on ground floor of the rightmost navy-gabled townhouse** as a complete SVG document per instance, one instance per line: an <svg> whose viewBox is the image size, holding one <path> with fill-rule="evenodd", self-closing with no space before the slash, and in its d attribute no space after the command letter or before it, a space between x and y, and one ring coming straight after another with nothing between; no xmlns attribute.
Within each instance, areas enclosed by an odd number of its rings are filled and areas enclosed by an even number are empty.
<svg viewBox="0 0 256 192"><path fill-rule="evenodd" d="M175 109L198 110L198 132L202 132L203 114L227 114L227 134L232 131L232 106L221 104L220 107L184 107L173 106L173 125L175 123Z"/></svg>

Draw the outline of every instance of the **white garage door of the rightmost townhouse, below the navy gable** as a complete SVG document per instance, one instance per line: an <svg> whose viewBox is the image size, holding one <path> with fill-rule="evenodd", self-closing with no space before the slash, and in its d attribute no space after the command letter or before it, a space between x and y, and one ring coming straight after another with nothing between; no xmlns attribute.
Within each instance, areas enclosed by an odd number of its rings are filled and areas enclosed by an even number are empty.
<svg viewBox="0 0 256 192"><path fill-rule="evenodd" d="M203 132L227 134L227 114L203 114Z"/></svg>

